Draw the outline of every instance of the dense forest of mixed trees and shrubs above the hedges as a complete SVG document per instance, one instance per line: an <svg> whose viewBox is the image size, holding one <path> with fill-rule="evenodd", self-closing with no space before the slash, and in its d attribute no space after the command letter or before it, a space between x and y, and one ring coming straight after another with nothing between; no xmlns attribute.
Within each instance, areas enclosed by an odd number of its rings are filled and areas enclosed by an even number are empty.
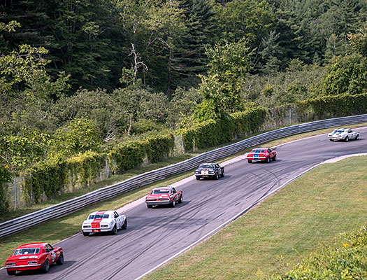
<svg viewBox="0 0 367 280"><path fill-rule="evenodd" d="M366 93L366 17L366 0L1 1L1 180L251 106Z"/></svg>

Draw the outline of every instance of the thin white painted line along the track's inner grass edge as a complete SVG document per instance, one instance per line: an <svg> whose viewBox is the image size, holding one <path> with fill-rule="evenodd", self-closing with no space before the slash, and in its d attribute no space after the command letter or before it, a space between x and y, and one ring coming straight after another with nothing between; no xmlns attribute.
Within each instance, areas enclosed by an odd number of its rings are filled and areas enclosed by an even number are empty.
<svg viewBox="0 0 367 280"><path fill-rule="evenodd" d="M309 169L305 170L304 172L301 172L300 174L294 176L292 179L289 179L287 182L283 183L281 186L279 186L278 188L276 188L275 190L272 190L270 193L268 193L266 196L262 197L261 200L257 200L257 202L254 202L253 204L251 204L249 207L243 209L242 211L240 211L240 213L236 214L235 216L233 216L232 218L229 218L229 220L225 221L224 223L222 223L222 225L217 226L217 228L215 228L214 230L208 232L206 235L204 235L203 237L201 237L200 239L196 240L194 243L190 244L189 246L187 246L186 248L183 248L181 251L179 251L178 253L175 253L173 256L171 256L170 258L164 260L163 262L161 262L159 265L153 267L152 269L148 270L147 272L145 272L144 274L142 274L141 276L138 276L138 278L136 278L135 280L141 279L143 278L145 275L150 274L150 272L153 272L155 269L158 269L159 267L161 267L162 265L165 265L167 262L169 262L170 260L172 260L173 258L176 258L178 255L184 253L185 251L189 250L189 248L192 248L193 246L195 246L196 244L198 244L199 242L205 240L207 237L210 237L210 235L213 235L215 232L217 232L218 230L220 230L221 228L224 228L224 226L228 225L229 223L231 223L232 221L235 221L238 217L242 216L243 214L245 214L246 211L250 210L252 207L256 206L259 202L263 201L266 199L266 197L268 197L269 195L273 195L273 193L277 192L278 190L280 190L281 188L285 187L287 184L291 183L292 181L296 180L298 177L302 176L303 174L309 172L310 170L314 169L315 167L318 167L319 165L322 165L324 162L320 162L317 165L314 165L312 167L310 167Z"/></svg>

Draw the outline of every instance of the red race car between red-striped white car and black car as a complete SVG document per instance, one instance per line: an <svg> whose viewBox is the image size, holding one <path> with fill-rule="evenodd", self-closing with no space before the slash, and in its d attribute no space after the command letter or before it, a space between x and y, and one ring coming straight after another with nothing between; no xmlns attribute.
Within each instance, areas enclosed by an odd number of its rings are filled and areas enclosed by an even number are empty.
<svg viewBox="0 0 367 280"><path fill-rule="evenodd" d="M182 191L177 191L172 186L154 188L150 194L145 197L147 208L162 204L168 204L171 207L175 207L176 203L182 203L182 201Z"/></svg>

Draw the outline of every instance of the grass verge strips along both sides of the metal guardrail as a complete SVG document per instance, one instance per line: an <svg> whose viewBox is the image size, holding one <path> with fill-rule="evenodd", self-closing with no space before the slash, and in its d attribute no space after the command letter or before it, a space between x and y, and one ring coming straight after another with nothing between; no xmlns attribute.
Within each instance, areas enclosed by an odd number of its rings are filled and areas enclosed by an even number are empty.
<svg viewBox="0 0 367 280"><path fill-rule="evenodd" d="M366 124L364 124L364 125L366 125ZM363 126L363 125L352 126L352 127L359 127L359 126ZM321 131L317 131L317 132L308 132L308 133L304 133L304 134L297 134L297 135L292 136L292 137L287 137L287 138L284 138L284 139L272 141L268 144L264 144L264 146L275 146L275 145L278 145L278 144L286 143L287 141L292 141L292 140L295 140L295 139L301 139L301 138L309 137L309 136L312 136L312 135L326 133L326 132L329 132L330 130L331 129L321 130ZM238 141L240 141L240 140L238 140ZM130 170L129 172L127 172L123 175L112 176L110 179L108 179L106 181L101 181L101 182L97 183L96 185L94 185L92 187L89 187L87 190L80 190L78 193L64 194L62 197L58 197L57 200L55 199L52 202L49 201L48 203L38 204L36 206L29 207L27 209L12 211L7 216L8 218L6 218L6 220L8 220L11 217L14 218L16 216L21 216L23 214L27 214L27 213L30 213L32 211L36 211L38 209L43 209L43 208L48 207L52 204L62 202L64 200L68 200L72 197L82 195L84 193L95 190L97 188L102 188L104 186L110 186L113 183L123 181L125 179L130 178L131 176L136 176L138 174L142 174L142 173L147 172L147 171L152 170L152 169L157 169L157 168L160 168L160 167L171 165L175 162L180 162L182 160L186 160L187 158L192 158L193 156L195 156L199 153L203 153L205 151L210 151L211 149L213 149L213 148L207 148L206 150L201 150L201 151L198 151L197 153L180 155L180 156L175 157L175 158L168 158L164 162L159 162L159 163L154 164L154 165L149 165L148 167L145 167L143 169L134 169L134 170ZM241 155L241 154L243 154L247 151L250 151L250 148L248 148L248 149L246 149L246 150L244 150L240 153L237 153L236 155L232 155L229 158L234 158L237 155ZM228 160L229 158L219 160L218 162ZM48 241L51 244L55 244L58 241L61 241L65 238L67 238L67 237L70 237L71 235L74 235L77 232L80 232L80 226L82 224L82 221L84 221L85 217L90 212L96 211L96 210L99 210L99 209L118 209L118 208L124 206L125 204L128 204L129 202L133 202L134 200L137 200L138 198L143 197L144 195L146 195L148 193L148 191L151 188L154 188L155 186L168 185L170 183L180 181L181 179L184 179L187 176L192 176L192 171L179 174L178 176L172 176L171 178L166 179L164 181L160 181L160 182L157 182L157 183L152 183L150 185L138 188L136 190L132 190L129 193L124 193L122 195L119 195L119 196L117 196L113 199L93 204L92 206L89 206L85 209L82 209L82 210L77 211L73 214L70 214L69 216L65 216L63 218L59 218L59 219L52 220L52 221L47 221L47 222L43 223L42 225L38 225L38 226L33 227L31 229L24 230L22 232L18 232L18 233L14 234L14 235L11 235L9 237L3 237L3 238L0 239L0 266L3 265L3 263L5 262L8 255L13 253L13 250L17 246L19 246L20 244L30 243L30 242L37 242L37 241Z"/></svg>

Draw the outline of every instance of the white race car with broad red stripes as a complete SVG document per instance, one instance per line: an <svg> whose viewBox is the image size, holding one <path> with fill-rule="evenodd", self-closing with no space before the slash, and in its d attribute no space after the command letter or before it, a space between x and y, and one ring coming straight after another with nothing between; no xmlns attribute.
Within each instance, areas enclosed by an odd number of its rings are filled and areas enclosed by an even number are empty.
<svg viewBox="0 0 367 280"><path fill-rule="evenodd" d="M127 229L127 218L117 211L95 211L89 214L87 220L82 223L82 234L89 236L92 232L110 232L116 235L117 230Z"/></svg>

